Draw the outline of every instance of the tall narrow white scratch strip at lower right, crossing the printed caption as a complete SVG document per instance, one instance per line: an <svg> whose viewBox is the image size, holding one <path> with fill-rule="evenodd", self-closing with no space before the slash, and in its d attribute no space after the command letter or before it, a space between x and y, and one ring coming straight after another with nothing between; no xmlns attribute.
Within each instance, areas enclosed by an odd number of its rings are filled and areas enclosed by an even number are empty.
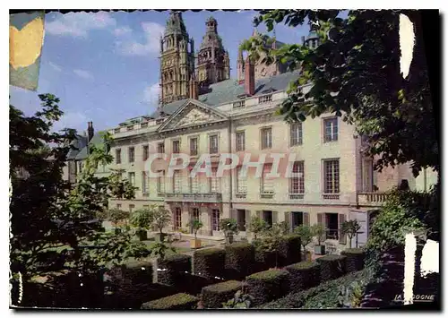
<svg viewBox="0 0 448 318"><path fill-rule="evenodd" d="M405 236L404 246L404 305L413 303L414 274L416 266L417 239L414 233Z"/></svg>

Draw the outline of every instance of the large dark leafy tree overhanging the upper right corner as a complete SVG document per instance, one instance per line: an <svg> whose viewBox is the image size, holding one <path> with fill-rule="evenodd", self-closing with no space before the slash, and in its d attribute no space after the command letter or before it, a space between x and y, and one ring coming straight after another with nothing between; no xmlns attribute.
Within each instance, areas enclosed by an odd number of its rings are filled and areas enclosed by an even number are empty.
<svg viewBox="0 0 448 318"><path fill-rule="evenodd" d="M346 19L340 10L270 10L254 18L271 31L284 22L297 27L312 21L321 39L318 47L300 44L268 49L265 36L255 36L241 45L252 58L263 52L268 64L282 62L300 69L289 85L289 98L280 114L288 121L305 121L323 113L341 116L355 125L365 142L366 156L378 158L375 168L412 162L418 176L422 168L439 171L439 147L429 90L422 25L417 10L350 10ZM409 76L400 69L400 16L414 25L415 47ZM298 90L310 83L306 94ZM418 136L418 138L416 138Z"/></svg>

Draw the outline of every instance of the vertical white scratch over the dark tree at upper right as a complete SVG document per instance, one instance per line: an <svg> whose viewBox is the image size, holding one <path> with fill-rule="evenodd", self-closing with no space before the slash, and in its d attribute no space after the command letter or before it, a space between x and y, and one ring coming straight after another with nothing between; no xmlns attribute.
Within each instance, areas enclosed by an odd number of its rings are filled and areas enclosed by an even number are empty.
<svg viewBox="0 0 448 318"><path fill-rule="evenodd" d="M400 72L403 79L409 74L410 63L414 55L415 33L414 24L405 14L400 14Z"/></svg>

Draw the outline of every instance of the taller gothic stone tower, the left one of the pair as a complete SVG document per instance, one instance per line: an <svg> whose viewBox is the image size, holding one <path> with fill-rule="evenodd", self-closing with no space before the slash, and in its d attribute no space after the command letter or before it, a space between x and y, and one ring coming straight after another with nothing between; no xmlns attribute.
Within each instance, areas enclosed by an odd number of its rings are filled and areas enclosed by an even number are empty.
<svg viewBox="0 0 448 318"><path fill-rule="evenodd" d="M170 12L160 38L160 100L163 105L189 98L194 73L194 40L186 32L182 13Z"/></svg>

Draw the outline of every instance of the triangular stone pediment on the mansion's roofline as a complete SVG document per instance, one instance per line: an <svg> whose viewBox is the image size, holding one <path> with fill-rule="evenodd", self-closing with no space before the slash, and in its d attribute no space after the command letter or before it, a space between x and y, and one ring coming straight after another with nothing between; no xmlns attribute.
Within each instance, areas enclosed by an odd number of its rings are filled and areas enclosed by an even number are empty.
<svg viewBox="0 0 448 318"><path fill-rule="evenodd" d="M177 109L168 120L160 125L159 132L193 127L228 120L228 116L200 101L190 99Z"/></svg>

